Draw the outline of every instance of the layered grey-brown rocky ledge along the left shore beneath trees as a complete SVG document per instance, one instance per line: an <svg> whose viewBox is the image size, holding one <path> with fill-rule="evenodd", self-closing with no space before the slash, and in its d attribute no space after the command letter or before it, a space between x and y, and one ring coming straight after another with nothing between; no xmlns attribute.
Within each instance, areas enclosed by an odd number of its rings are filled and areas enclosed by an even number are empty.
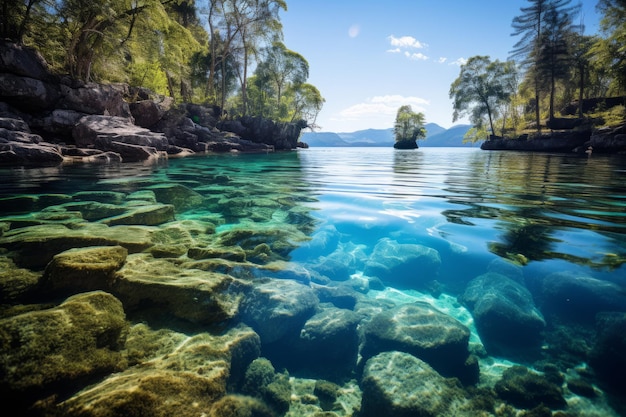
<svg viewBox="0 0 626 417"><path fill-rule="evenodd" d="M0 165L130 162L299 146L305 121L224 120L221 109L126 84L52 74L36 51L0 41Z"/></svg>

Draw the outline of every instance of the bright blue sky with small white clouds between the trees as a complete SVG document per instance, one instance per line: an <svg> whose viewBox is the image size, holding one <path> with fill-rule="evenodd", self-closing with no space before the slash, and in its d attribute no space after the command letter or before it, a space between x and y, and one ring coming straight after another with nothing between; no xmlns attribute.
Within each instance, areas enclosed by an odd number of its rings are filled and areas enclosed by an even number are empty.
<svg viewBox="0 0 626 417"><path fill-rule="evenodd" d="M427 123L449 128L450 84L475 55L506 60L522 0L288 0L281 12L287 48L310 66L308 82L326 99L325 132L393 127L410 104ZM572 2L576 4L576 0ZM595 0L585 0L586 34L597 32Z"/></svg>

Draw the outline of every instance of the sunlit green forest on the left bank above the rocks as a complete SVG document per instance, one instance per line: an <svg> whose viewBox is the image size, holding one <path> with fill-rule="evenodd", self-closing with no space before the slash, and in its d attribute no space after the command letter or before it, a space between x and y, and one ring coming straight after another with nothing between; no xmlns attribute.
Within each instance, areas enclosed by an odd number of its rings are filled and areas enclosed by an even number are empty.
<svg viewBox="0 0 626 417"><path fill-rule="evenodd" d="M284 0L1 0L0 37L57 74L127 83L231 115L314 125L324 99L283 43ZM253 69L253 71L251 70Z"/></svg>

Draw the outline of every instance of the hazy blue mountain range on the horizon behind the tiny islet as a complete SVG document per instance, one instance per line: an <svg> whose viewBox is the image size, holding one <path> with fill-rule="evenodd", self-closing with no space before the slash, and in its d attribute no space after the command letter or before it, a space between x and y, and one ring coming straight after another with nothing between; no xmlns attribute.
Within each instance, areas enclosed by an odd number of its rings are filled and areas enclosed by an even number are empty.
<svg viewBox="0 0 626 417"><path fill-rule="evenodd" d="M429 146L463 146L478 147L480 143L463 143L463 136L471 128L470 125L456 125L445 129L436 123L427 123L426 139L418 140L420 147ZM350 133L305 132L300 142L315 147L364 147L393 146L395 138L393 129L366 129Z"/></svg>

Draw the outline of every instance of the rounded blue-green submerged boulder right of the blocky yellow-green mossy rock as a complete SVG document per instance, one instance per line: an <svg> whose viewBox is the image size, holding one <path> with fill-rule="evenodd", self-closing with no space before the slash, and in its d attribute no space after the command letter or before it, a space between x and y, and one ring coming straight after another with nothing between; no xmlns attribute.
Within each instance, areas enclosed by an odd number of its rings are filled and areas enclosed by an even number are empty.
<svg viewBox="0 0 626 417"><path fill-rule="evenodd" d="M263 279L254 283L241 306L241 319L263 344L298 335L319 301L309 286L291 280Z"/></svg>

